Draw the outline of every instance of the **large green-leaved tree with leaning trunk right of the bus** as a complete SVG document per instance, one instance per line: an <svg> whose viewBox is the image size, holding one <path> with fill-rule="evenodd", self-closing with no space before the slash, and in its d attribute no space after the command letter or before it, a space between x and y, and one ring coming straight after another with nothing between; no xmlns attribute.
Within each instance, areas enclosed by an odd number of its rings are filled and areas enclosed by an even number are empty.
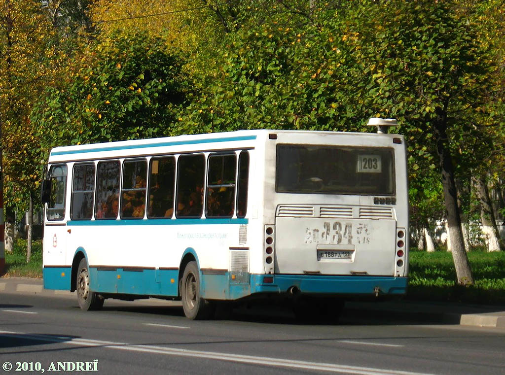
<svg viewBox="0 0 505 375"><path fill-rule="evenodd" d="M188 107L187 130L358 130L368 117L397 118L411 171L438 170L458 283L472 284L455 176L482 157L472 151L488 135L476 124L502 121L479 112L492 69L474 24L453 1L362 0L311 11L298 8L297 19L264 12L261 23L230 33Z"/></svg>

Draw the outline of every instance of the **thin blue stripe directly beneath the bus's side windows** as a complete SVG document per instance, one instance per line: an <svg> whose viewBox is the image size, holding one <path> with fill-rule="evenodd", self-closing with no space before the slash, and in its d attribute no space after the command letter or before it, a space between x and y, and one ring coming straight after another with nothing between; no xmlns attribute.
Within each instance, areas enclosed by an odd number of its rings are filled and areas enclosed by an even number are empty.
<svg viewBox="0 0 505 375"><path fill-rule="evenodd" d="M67 226L122 226L122 225L221 225L248 224L248 219L131 219L131 220L71 220Z"/></svg>

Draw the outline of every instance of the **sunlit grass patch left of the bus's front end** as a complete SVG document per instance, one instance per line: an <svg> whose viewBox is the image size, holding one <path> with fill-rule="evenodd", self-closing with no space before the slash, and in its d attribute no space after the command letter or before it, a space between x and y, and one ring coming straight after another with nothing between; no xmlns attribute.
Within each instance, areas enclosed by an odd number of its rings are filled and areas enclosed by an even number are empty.
<svg viewBox="0 0 505 375"><path fill-rule="evenodd" d="M11 253L5 254L5 276L9 277L42 277L42 241L33 241L30 261L26 262L27 243L24 239L14 242Z"/></svg>

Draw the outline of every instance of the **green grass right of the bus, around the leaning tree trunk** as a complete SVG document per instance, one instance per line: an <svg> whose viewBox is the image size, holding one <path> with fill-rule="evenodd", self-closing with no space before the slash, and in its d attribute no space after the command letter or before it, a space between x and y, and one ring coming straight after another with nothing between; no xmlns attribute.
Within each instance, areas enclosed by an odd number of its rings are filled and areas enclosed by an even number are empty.
<svg viewBox="0 0 505 375"><path fill-rule="evenodd" d="M471 251L475 284L461 287L449 252L411 251L407 297L466 303L505 303L505 253Z"/></svg>

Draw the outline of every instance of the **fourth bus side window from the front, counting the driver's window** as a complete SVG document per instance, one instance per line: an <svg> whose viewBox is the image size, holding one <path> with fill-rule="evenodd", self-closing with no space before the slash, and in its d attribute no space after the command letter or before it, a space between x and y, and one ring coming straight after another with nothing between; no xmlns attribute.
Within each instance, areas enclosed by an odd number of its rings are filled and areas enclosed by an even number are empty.
<svg viewBox="0 0 505 375"><path fill-rule="evenodd" d="M146 178L147 162L145 160L125 160L121 190L122 219L144 217Z"/></svg>

